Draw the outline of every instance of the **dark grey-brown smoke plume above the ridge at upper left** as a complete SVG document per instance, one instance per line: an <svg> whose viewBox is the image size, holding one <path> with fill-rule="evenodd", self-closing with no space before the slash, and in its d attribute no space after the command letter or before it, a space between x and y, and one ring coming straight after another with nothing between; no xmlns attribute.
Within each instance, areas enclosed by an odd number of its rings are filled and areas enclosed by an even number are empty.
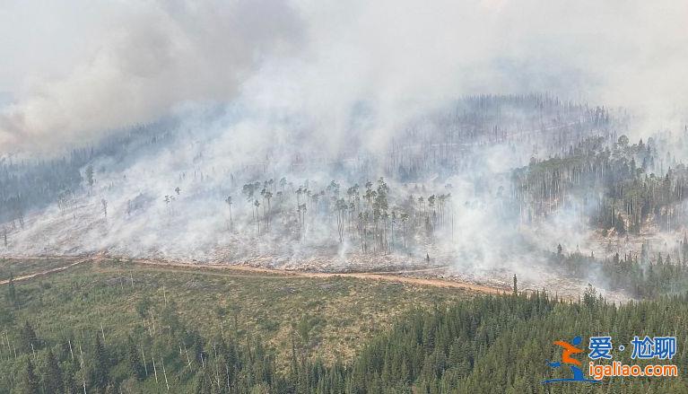
<svg viewBox="0 0 688 394"><path fill-rule="evenodd" d="M302 29L295 10L279 0L71 1L61 5L57 21L42 2L28 3L4 4L2 13L3 36L19 40L0 49L12 65L2 77L26 79L15 86L4 81L14 99L0 116L4 150L88 144L108 130L150 122L185 101L231 100L264 57L291 51ZM75 11L80 7L88 11ZM46 18L53 23L46 36L22 42L22 32L40 29ZM93 26L91 18L103 26ZM83 30L70 27L84 20L89 21ZM71 48L65 58L49 51L65 45L49 35L63 26L70 32L57 33L57 39L83 46ZM14 56L44 48L52 56Z"/></svg>

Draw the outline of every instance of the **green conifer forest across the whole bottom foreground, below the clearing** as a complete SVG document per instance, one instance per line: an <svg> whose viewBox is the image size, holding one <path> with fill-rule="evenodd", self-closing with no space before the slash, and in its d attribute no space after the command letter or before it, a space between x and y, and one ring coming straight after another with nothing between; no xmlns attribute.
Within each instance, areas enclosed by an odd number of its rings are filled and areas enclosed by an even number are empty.
<svg viewBox="0 0 688 394"><path fill-rule="evenodd" d="M545 393L562 386L541 381L570 377L568 370L548 366L561 357L554 341L609 335L614 344L629 348L614 350L614 360L630 363L633 336L683 332L688 296L622 306L606 303L592 287L577 302L547 293L476 297L414 311L372 339L350 363L332 364L309 357L296 332L289 360L277 363L260 338L203 337L171 303L163 316L157 333L139 326L126 337L112 338L94 329L44 339L25 324L20 333L4 338L0 392ZM688 341L677 340L672 363L684 371ZM681 393L688 385L679 374L661 380L607 378L565 389Z"/></svg>

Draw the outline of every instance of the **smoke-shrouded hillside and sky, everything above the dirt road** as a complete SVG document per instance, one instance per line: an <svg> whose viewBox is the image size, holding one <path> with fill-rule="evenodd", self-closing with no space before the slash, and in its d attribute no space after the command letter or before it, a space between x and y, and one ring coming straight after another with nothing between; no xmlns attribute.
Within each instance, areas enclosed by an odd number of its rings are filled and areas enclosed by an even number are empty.
<svg viewBox="0 0 688 394"><path fill-rule="evenodd" d="M0 2L4 254L686 258L688 5L40 3Z"/></svg>

